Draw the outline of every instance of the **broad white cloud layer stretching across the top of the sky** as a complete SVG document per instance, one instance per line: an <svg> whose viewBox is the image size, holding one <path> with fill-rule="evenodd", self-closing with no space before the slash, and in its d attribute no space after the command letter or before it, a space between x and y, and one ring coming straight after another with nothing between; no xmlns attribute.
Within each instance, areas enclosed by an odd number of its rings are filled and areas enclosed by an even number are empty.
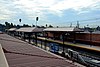
<svg viewBox="0 0 100 67"><path fill-rule="evenodd" d="M100 0L1 0L0 18L10 19L22 13L29 18L46 19L47 13L62 16L63 11L70 9L77 14L100 10Z"/></svg>

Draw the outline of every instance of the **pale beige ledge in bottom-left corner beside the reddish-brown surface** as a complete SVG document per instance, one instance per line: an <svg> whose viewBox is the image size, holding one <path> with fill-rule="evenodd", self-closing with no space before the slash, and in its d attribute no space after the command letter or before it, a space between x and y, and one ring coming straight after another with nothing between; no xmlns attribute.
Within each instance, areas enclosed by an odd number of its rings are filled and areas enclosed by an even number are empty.
<svg viewBox="0 0 100 67"><path fill-rule="evenodd" d="M0 44L0 67L9 67L1 44Z"/></svg>

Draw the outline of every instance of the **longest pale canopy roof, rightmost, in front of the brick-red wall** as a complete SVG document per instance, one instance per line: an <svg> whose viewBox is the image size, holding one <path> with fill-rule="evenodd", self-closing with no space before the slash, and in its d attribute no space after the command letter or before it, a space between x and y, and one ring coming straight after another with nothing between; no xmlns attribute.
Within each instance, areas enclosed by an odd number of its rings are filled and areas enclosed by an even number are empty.
<svg viewBox="0 0 100 67"><path fill-rule="evenodd" d="M79 32L79 28L46 28L43 31Z"/></svg>

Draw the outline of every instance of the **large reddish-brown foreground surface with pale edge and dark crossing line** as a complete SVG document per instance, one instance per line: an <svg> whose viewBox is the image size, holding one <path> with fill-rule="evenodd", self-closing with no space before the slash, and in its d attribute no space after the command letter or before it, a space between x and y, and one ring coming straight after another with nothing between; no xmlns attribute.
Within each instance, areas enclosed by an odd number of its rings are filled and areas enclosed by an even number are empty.
<svg viewBox="0 0 100 67"><path fill-rule="evenodd" d="M84 67L7 34L0 34L0 44L9 67Z"/></svg>

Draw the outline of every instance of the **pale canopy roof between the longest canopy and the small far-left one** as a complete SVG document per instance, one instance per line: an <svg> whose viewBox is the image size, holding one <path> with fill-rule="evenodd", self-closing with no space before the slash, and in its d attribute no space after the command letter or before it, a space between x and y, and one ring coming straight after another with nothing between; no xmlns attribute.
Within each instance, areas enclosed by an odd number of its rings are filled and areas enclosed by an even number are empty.
<svg viewBox="0 0 100 67"><path fill-rule="evenodd" d="M42 32L43 31L43 28L37 28L37 27L23 27L23 28L20 28L16 31L19 31L19 32Z"/></svg>

